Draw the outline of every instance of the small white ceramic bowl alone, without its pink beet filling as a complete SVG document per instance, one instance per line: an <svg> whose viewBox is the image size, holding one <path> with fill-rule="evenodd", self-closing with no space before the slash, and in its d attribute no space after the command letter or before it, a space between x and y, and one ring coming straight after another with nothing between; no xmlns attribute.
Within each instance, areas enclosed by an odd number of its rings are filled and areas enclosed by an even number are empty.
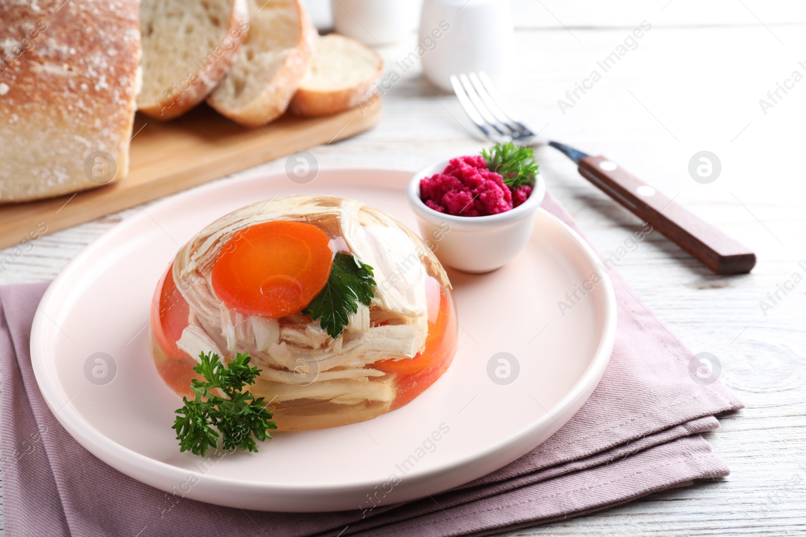
<svg viewBox="0 0 806 537"><path fill-rule="evenodd" d="M420 199L420 180L442 172L449 162L426 166L409 181L409 205L417 215L422 238L443 265L472 273L495 271L520 254L529 241L546 184L538 174L529 199L506 213L455 217L430 209Z"/></svg>

